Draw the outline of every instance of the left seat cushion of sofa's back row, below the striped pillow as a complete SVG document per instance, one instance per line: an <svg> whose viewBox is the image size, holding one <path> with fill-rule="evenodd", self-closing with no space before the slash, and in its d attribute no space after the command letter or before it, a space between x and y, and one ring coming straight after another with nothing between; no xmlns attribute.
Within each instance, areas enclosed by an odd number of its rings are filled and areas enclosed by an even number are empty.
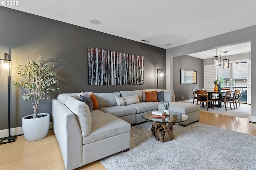
<svg viewBox="0 0 256 170"><path fill-rule="evenodd" d="M122 117L122 116L132 115L137 113L136 109L134 107L130 107L130 105L100 107L99 110L103 111L104 113L110 113L111 115L114 115L116 117Z"/></svg>

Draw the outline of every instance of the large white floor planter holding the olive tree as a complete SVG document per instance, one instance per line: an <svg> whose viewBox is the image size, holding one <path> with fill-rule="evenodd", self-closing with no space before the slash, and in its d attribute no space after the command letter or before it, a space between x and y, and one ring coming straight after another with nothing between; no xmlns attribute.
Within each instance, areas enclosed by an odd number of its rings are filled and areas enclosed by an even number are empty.
<svg viewBox="0 0 256 170"><path fill-rule="evenodd" d="M46 115L36 119L25 119L33 116L27 115L22 117L22 130L26 140L40 140L47 136L50 124L50 115L48 113L39 113L38 115Z"/></svg>

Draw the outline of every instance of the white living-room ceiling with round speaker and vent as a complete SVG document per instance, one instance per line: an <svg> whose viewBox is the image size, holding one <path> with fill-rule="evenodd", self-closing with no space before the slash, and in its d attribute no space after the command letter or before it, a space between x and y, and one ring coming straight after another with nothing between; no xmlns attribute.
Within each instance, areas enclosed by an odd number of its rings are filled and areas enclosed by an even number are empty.
<svg viewBox="0 0 256 170"><path fill-rule="evenodd" d="M256 25L256 0L23 0L2 6L164 49Z"/></svg>

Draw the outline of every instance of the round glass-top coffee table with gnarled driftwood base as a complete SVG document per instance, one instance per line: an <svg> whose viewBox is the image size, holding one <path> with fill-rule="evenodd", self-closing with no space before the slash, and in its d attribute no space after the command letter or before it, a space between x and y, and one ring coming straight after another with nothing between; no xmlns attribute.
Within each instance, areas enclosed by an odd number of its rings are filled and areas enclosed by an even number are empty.
<svg viewBox="0 0 256 170"><path fill-rule="evenodd" d="M170 112L170 116L165 116L165 118L152 117L151 111L141 114L143 119L151 121L153 123L151 131L156 140L160 142L170 141L174 138L172 133L173 126L177 123L184 122L188 120L188 116Z"/></svg>

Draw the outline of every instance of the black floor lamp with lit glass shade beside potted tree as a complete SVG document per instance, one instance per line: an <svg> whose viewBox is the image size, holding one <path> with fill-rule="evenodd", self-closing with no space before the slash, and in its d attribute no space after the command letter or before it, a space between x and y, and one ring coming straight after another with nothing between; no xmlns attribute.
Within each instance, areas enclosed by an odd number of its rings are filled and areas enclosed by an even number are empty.
<svg viewBox="0 0 256 170"><path fill-rule="evenodd" d="M8 53L4 53L4 59L0 59L0 76L8 77L8 130L9 136L0 139L0 144L15 142L17 136L11 136L11 114L10 114L10 81L11 81L11 59ZM7 140L7 141L5 141Z"/></svg>

